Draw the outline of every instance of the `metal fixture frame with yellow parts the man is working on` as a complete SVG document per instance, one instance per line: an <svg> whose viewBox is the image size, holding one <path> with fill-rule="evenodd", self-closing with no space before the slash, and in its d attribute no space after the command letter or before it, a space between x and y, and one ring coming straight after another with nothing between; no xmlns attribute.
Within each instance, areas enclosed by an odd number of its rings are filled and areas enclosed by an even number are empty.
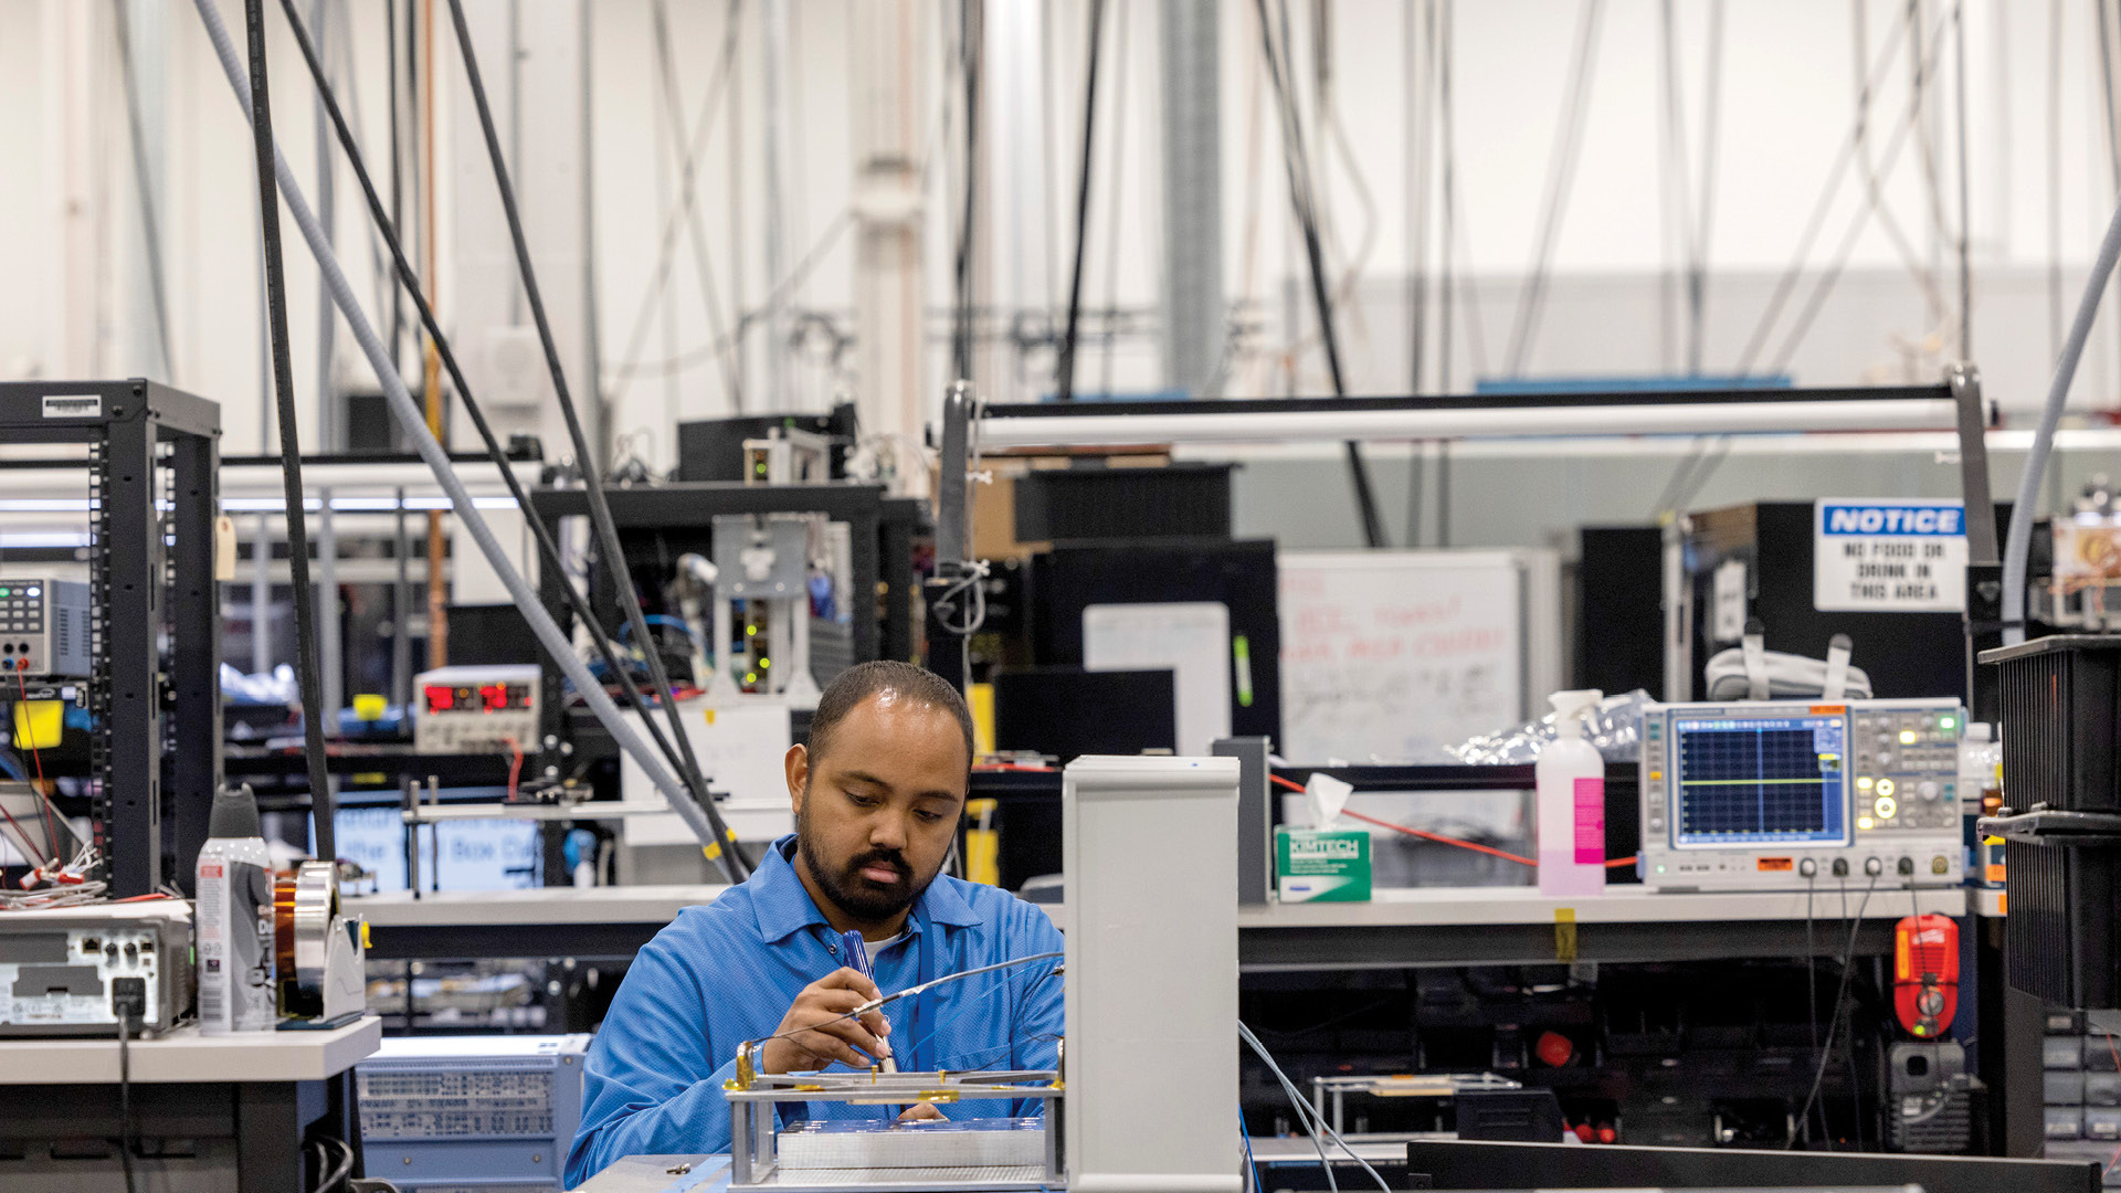
<svg viewBox="0 0 2121 1193"><path fill-rule="evenodd" d="M861 1189L876 1193L952 1193L952 1191L1031 1191L1063 1189L1067 1185L1067 1148L1060 1146L1060 1106L1067 1087L1058 1070L971 1070L971 1072L753 1072L751 1044L738 1055L736 1072L723 1085L723 1100L730 1104L730 1189L734 1191L840 1191L846 1180L806 1182L800 1174L785 1174L774 1153L776 1102L836 1102L848 1106L910 1106L916 1102L965 1102L1007 1097L1037 1100L1046 1104L1046 1170L1024 1180L995 1180L974 1176L967 1170L963 1180L863 1180ZM1039 1083L1039 1085L1024 1085ZM874 1176L882 1176L878 1170ZM931 1172L931 1170L921 1170Z"/></svg>

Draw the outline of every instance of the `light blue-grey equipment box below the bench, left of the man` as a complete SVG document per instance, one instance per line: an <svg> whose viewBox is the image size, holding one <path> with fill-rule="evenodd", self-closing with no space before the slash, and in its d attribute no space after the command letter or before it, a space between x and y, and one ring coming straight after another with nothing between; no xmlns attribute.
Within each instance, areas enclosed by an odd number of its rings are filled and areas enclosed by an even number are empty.
<svg viewBox="0 0 2121 1193"><path fill-rule="evenodd" d="M590 1036L409 1036L361 1061L373 1172L407 1193L556 1191Z"/></svg>

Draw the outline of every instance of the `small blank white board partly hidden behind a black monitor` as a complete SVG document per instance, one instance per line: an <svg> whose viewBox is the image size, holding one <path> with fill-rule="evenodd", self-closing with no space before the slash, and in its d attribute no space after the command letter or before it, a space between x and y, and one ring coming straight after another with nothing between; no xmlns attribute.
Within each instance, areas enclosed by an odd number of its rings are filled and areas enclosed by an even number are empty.
<svg viewBox="0 0 2121 1193"><path fill-rule="evenodd" d="M1230 607L1222 601L1088 605L1084 671L1171 669L1179 754L1230 737Z"/></svg>

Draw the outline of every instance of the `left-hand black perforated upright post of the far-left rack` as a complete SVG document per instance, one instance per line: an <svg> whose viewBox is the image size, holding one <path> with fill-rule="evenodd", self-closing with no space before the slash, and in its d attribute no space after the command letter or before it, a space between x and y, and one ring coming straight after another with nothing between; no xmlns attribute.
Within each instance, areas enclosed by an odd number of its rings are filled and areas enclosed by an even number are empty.
<svg viewBox="0 0 2121 1193"><path fill-rule="evenodd" d="M104 671L110 681L108 815L110 894L129 898L161 885L161 692L157 688L155 596L161 588L161 526L155 518L155 431L146 386L110 403L104 431L102 505L108 603ZM216 679L218 681L218 679ZM214 737L218 741L218 734Z"/></svg>

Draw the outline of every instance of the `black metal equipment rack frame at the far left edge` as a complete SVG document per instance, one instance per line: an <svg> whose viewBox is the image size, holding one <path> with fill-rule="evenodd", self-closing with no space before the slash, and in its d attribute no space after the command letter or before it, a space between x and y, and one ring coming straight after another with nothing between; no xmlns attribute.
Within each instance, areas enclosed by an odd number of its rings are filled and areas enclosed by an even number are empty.
<svg viewBox="0 0 2121 1193"><path fill-rule="evenodd" d="M95 414L47 408L51 397L91 395ZM95 845L115 898L163 881L189 887L187 862L206 843L221 788L221 408L144 378L0 382L0 437L89 446L89 459L68 467L89 471L91 497ZM157 509L165 486L168 518ZM165 851L174 872L163 870Z"/></svg>

